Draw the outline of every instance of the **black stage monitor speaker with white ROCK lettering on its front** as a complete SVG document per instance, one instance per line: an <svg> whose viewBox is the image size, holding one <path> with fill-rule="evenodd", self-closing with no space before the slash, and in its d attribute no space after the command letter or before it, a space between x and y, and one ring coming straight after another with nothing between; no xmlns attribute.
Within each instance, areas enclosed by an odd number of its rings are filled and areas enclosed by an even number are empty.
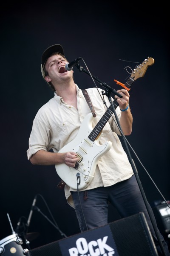
<svg viewBox="0 0 170 256"><path fill-rule="evenodd" d="M27 256L158 256L143 212L29 250Z"/></svg>

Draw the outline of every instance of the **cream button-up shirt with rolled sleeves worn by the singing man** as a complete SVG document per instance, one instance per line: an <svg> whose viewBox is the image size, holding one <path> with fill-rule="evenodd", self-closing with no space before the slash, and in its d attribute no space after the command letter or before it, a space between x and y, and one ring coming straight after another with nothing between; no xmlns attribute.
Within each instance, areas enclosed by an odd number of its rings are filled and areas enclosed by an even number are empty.
<svg viewBox="0 0 170 256"><path fill-rule="evenodd" d="M57 93L54 93L54 98L50 99L37 112L29 138L29 148L27 150L28 160L39 150L49 151L52 149L54 152L58 152L77 136L80 126L83 125L82 122L85 116L91 113L91 110L83 96L82 90L79 89L77 84L75 86L77 89L78 110L65 103L60 96L57 96ZM107 108L101 98L102 89L99 89L101 96L96 88L86 90L96 112L96 117L94 117L92 122L94 127L107 111ZM109 107L110 102L106 96L105 102ZM121 111L119 106L116 108L116 113L120 119ZM109 119L102 130L102 137L100 137L101 144L111 141L111 149L98 160L94 178L88 187L82 190L94 189L99 186L111 186L133 175L127 154L118 137L120 135L119 128L114 120L112 117ZM65 197L68 204L74 207L70 193L71 190L74 189L65 185Z"/></svg>

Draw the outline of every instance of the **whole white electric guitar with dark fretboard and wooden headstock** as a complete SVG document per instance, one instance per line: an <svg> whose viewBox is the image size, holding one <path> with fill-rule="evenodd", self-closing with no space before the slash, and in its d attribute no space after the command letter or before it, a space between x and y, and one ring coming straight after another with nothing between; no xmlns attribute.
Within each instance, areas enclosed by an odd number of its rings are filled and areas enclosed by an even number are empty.
<svg viewBox="0 0 170 256"><path fill-rule="evenodd" d="M147 67L153 65L153 63L153 58L147 58L142 64L137 65L125 85L115 81L117 84L121 84L122 87L130 90L131 84L136 79L143 77ZM113 105L115 109L119 105L116 99L114 99ZM55 165L59 177L71 188L77 189L77 183L79 183L78 188L80 190L85 189L94 177L97 161L110 150L111 142L106 141L105 144L100 145L99 139L102 135L102 129L112 113L113 110L110 106L94 128L92 128L94 117L92 113L89 113L83 120L77 137L59 150L59 153L74 151L79 157L79 161L74 168L68 167L64 163Z"/></svg>

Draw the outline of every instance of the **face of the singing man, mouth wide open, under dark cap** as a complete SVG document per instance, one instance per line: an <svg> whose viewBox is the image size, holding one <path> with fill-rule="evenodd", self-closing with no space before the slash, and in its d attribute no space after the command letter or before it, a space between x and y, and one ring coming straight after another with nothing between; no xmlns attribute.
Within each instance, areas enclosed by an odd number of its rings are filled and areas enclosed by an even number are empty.
<svg viewBox="0 0 170 256"><path fill-rule="evenodd" d="M68 61L60 55L49 57L45 63L45 70L48 72L48 76L45 76L45 80L55 85L58 84L59 81L71 79L73 77L73 71L65 70L67 63Z"/></svg>

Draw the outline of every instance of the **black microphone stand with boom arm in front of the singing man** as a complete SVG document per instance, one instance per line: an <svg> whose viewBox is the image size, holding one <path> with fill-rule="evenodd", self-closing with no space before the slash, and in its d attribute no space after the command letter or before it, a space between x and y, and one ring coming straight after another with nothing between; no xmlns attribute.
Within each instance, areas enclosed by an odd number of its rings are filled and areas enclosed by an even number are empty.
<svg viewBox="0 0 170 256"><path fill-rule="evenodd" d="M80 72L84 72L84 73L86 73L88 76L92 76L87 70L85 70L83 67L81 67L78 63L77 63L77 65L76 65L76 67L79 69ZM117 117L117 114L116 114L116 111L115 111L115 108L114 108L114 105L113 105L113 102L112 102L112 99L111 99L111 95L110 95L110 94L113 93L113 94L119 96L120 98L122 98L122 96L121 96L119 93L117 93L116 90L112 89L112 88L111 88L108 84L106 84L105 82L100 81L100 80L99 80L98 78L96 78L95 76L92 76L92 77L94 78L94 80L96 80L97 82L99 82L99 84L100 84L101 86L103 86L103 87L106 88L105 93L103 93L103 95L105 94L105 95L108 97L109 102L111 102L111 106L112 106L113 113L114 113L114 115L115 115L117 124L118 124L118 126L119 126L119 128L120 128L120 130L121 130L121 132L122 132L122 134L123 134L123 131L122 131L122 128L121 128L119 119L118 119L118 117ZM150 220L151 220L151 223L152 223L152 225L153 225L153 229L154 229L154 231L155 231L155 233L156 233L156 237L157 237L157 239L158 239L158 241L159 241L159 245L160 245L160 247L161 247L162 253L163 253L164 256L166 256L165 251L164 251L164 247L163 247L163 245L162 245L161 239L160 239L160 237L159 237L159 233L158 233L157 228L156 228L156 224L155 224L155 222L154 222L154 218L153 218L152 212L151 212L150 207L149 207L149 204L148 204L148 202L147 202L147 198L146 198L146 196L145 196L145 194L144 194L144 190L143 190L143 187L142 187L142 183L141 183L141 181L140 181L140 179L139 179L138 171L137 171L137 169L136 169L136 166L135 166L135 163L134 163L134 161L133 161L133 158L131 157L131 154L130 154L130 151L129 151L127 142L126 142L126 140L125 140L124 134L123 134L123 136L122 136L122 139L123 139L123 142L125 143L125 147L126 147L126 150L127 150L127 154L128 154L129 161L130 161L131 166L132 166L132 169L133 169L133 173L134 173L134 175L135 175L135 177L136 177L136 180L137 180L137 183L138 183L138 185L139 185L139 189L140 189L140 191L141 191L141 194L142 194L144 203L145 203L145 205L146 205L147 212L148 212L148 214L149 214L149 216L150 216Z"/></svg>

